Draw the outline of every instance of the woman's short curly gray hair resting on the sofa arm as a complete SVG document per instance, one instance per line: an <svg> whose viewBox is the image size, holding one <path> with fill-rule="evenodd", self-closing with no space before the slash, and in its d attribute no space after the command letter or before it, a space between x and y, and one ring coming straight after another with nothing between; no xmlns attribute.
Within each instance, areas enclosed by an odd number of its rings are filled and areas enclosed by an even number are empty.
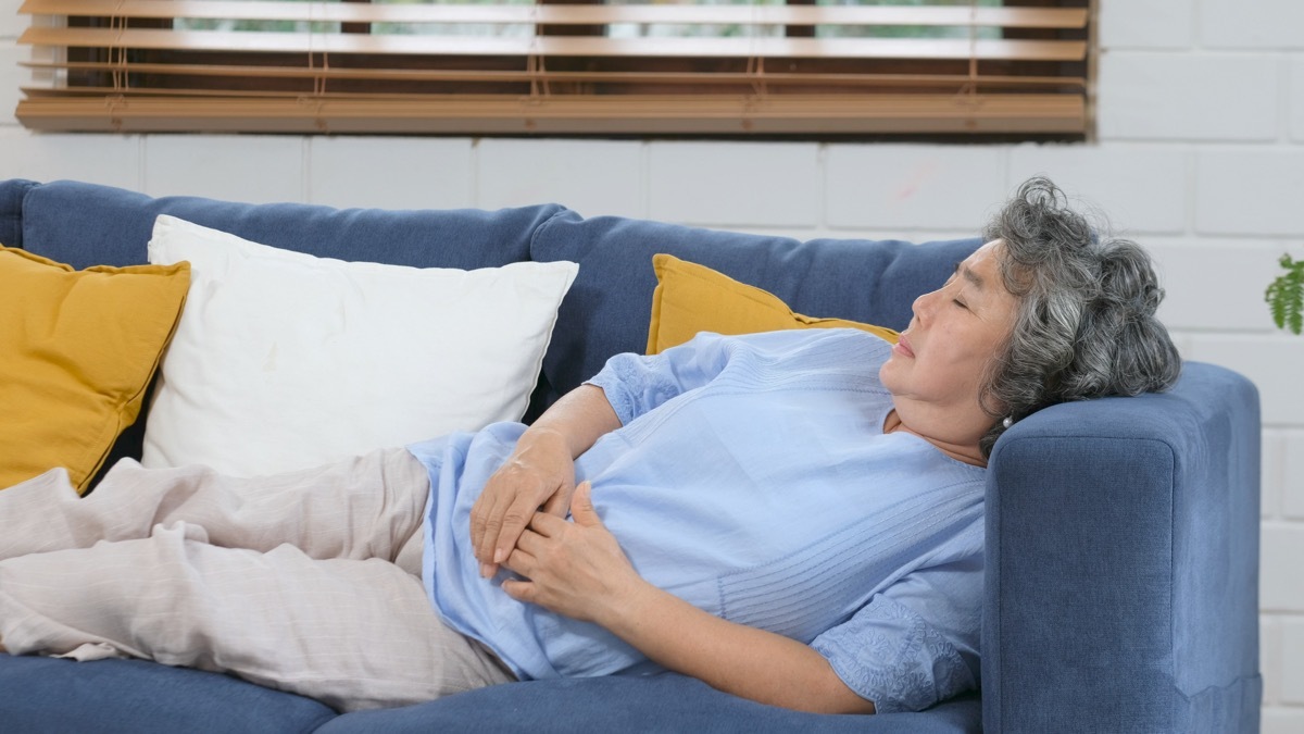
<svg viewBox="0 0 1304 734"><path fill-rule="evenodd" d="M983 242L996 239L1001 279L1018 307L981 393L992 418L1018 421L1058 402L1178 381L1181 359L1154 316L1163 289L1138 244L1098 232L1046 178L1025 182L988 222ZM982 438L985 457L1005 428L996 421Z"/></svg>

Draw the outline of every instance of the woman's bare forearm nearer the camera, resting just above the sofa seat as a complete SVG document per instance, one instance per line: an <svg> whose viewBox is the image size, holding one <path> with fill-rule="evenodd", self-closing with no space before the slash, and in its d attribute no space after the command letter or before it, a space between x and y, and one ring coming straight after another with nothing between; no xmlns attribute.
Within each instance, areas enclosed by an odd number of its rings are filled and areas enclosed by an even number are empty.
<svg viewBox="0 0 1304 734"><path fill-rule="evenodd" d="M818 652L782 635L713 616L640 580L599 624L655 662L763 704L874 713Z"/></svg>

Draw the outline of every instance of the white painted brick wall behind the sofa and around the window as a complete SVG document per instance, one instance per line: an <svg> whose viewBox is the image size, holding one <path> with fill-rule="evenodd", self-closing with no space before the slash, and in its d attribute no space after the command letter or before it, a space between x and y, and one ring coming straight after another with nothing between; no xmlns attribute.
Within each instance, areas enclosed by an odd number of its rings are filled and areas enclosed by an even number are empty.
<svg viewBox="0 0 1304 734"><path fill-rule="evenodd" d="M1155 253L1183 354L1261 391L1264 731L1304 731L1304 337L1262 303L1277 256L1304 256L1304 3L1101 0L1101 140L975 146L30 135L12 116L18 4L0 0L0 178L340 206L558 201L926 240L971 234L1020 180L1050 175Z"/></svg>

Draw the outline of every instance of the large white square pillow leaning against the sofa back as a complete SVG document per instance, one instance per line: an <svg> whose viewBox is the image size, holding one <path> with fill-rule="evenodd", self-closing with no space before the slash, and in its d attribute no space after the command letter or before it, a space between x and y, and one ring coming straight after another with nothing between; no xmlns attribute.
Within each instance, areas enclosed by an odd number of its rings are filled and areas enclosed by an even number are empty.
<svg viewBox="0 0 1304 734"><path fill-rule="evenodd" d="M241 477L519 421L579 266L346 263L160 215L150 263L190 261L146 466Z"/></svg>

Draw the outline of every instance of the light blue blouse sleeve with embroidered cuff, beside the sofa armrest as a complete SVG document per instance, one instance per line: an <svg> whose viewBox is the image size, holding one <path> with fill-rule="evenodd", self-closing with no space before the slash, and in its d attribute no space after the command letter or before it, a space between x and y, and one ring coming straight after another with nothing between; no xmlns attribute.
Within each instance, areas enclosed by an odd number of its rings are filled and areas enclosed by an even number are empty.
<svg viewBox="0 0 1304 734"><path fill-rule="evenodd" d="M982 551L908 573L811 646L879 713L978 688Z"/></svg>

